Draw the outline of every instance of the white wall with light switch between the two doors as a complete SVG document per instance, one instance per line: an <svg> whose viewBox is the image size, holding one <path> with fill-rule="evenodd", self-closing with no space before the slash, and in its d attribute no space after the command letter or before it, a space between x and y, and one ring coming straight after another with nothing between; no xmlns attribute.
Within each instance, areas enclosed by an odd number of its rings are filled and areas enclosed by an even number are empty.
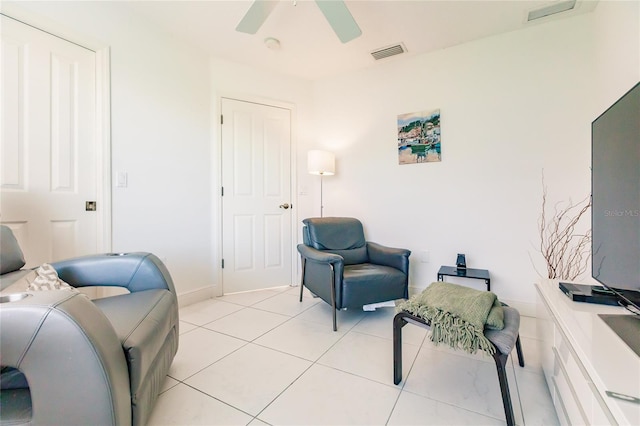
<svg viewBox="0 0 640 426"><path fill-rule="evenodd" d="M215 280L209 58L106 2L20 2L34 20L111 49L111 152L128 187L112 192L116 252L162 258L184 299Z"/></svg>

